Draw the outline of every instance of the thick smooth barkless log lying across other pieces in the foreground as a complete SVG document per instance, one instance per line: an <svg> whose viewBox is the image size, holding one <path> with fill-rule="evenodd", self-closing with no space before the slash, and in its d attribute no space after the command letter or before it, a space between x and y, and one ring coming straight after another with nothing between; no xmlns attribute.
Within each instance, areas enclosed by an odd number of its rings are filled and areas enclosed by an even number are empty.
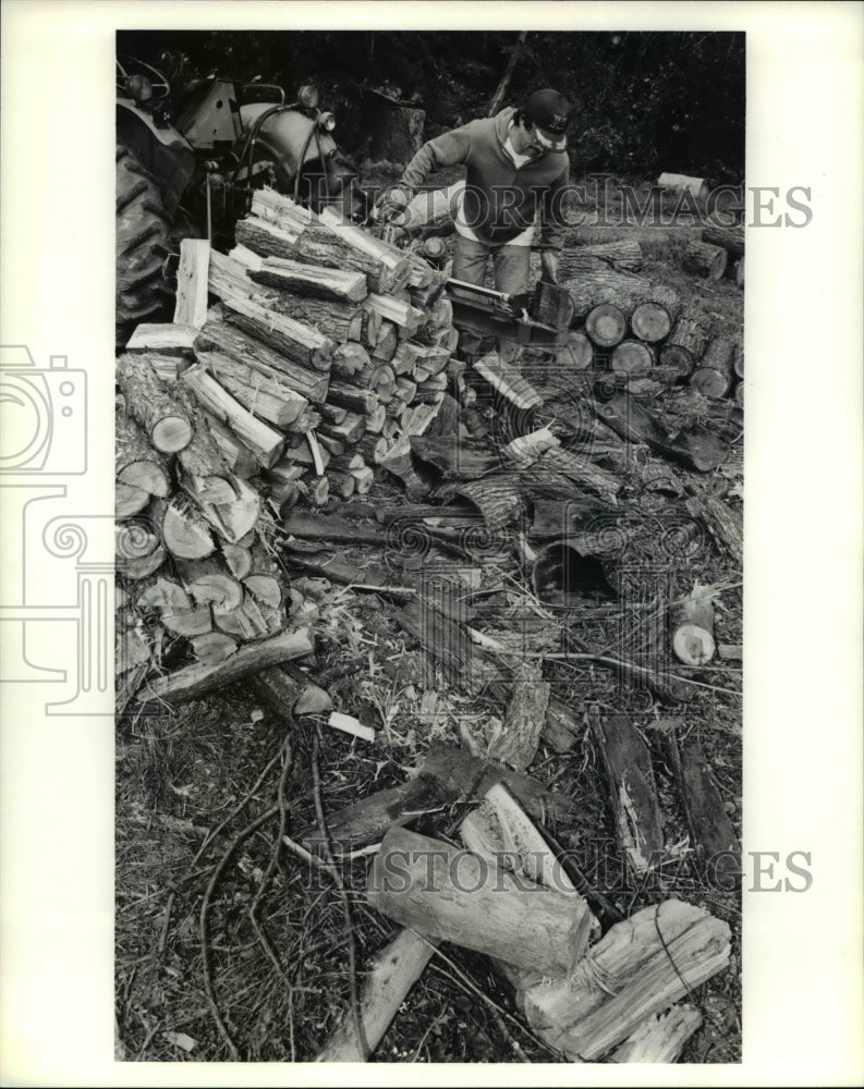
<svg viewBox="0 0 864 1089"><path fill-rule="evenodd" d="M367 898L418 933L553 978L572 971L591 921L581 897L516 880L478 855L398 827L375 857Z"/></svg>

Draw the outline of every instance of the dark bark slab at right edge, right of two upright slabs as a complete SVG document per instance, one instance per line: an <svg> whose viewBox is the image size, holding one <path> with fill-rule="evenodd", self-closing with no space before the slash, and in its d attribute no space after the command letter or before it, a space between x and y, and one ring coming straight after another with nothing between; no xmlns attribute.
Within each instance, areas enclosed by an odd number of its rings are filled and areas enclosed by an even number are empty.
<svg viewBox="0 0 864 1089"><path fill-rule="evenodd" d="M705 751L695 734L679 742L674 731L667 749L698 859L711 886L731 892L741 877L741 845Z"/></svg>

